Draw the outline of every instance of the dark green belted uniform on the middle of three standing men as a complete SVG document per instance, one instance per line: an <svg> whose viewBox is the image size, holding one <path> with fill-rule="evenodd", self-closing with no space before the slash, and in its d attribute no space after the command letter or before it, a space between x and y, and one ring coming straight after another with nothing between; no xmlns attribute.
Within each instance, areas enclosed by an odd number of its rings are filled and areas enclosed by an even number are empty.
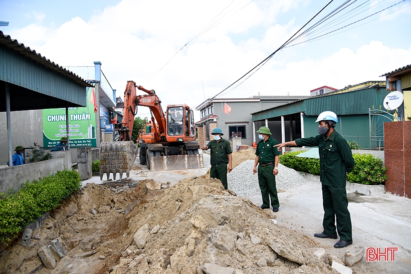
<svg viewBox="0 0 411 274"><path fill-rule="evenodd" d="M258 183L260 185L261 196L263 197L264 207L271 206L280 207L277 196L276 177L273 174L275 156L280 155L280 152L275 145L278 145L277 141L269 137L266 141L260 141L257 144L256 155L258 156ZM267 166L262 164L273 163Z"/></svg>

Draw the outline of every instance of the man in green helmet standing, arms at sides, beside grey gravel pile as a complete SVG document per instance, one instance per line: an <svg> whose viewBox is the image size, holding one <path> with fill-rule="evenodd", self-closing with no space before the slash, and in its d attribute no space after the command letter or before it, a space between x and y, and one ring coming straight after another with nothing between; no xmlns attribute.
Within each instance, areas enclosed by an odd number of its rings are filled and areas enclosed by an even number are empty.
<svg viewBox="0 0 411 274"><path fill-rule="evenodd" d="M261 127L258 131L260 142L256 148L256 160L254 162L253 173L257 172L258 165L258 184L260 185L261 196L263 197L262 209L270 208L277 212L280 207L277 196L276 175L278 174L278 159L280 152L275 148L278 142L271 138L270 129L268 127Z"/></svg>

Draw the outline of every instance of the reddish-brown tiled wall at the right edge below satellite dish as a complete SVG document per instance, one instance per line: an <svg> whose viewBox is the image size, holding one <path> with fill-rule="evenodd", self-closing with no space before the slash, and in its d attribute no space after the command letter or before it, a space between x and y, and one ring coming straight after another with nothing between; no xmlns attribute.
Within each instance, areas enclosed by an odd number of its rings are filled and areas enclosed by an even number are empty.
<svg viewBox="0 0 411 274"><path fill-rule="evenodd" d="M411 121L384 123L385 190L411 198Z"/></svg>

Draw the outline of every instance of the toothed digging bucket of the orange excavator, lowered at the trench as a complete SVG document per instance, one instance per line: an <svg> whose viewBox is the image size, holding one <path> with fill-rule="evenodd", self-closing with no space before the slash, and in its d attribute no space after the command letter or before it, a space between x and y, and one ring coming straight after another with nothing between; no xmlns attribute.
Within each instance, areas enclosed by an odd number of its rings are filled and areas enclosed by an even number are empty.
<svg viewBox="0 0 411 274"><path fill-rule="evenodd" d="M122 179L123 173L126 173L128 178L137 157L137 151L137 146L131 141L102 143L100 180L103 180L104 173L107 174L107 180L110 180L110 173L113 173L113 179L116 178L117 173L120 173L120 179Z"/></svg>

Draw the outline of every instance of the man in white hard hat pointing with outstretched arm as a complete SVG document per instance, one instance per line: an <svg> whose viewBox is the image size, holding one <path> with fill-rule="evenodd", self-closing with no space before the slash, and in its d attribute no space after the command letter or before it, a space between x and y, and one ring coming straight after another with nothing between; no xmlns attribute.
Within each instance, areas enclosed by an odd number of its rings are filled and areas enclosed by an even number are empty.
<svg viewBox="0 0 411 274"><path fill-rule="evenodd" d="M315 233L318 238L337 238L335 248L352 244L351 217L348 211L347 191L345 189L347 172L352 171L354 159L347 141L334 130L338 122L337 115L332 111L322 112L317 120L319 135L310 138L296 139L278 145L278 150L284 146L318 146L320 154L320 181L324 208L323 232Z"/></svg>

